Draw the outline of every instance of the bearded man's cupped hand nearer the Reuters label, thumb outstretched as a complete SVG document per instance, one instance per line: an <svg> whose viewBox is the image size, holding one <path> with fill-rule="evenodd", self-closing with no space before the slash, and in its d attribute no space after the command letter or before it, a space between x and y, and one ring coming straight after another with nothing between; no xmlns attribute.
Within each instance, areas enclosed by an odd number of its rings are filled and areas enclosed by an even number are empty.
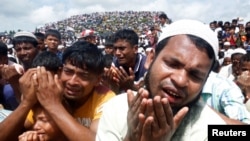
<svg viewBox="0 0 250 141"><path fill-rule="evenodd" d="M171 140L188 108L182 108L173 116L172 108L167 98L155 96L147 100L146 119L142 129L141 141Z"/></svg>

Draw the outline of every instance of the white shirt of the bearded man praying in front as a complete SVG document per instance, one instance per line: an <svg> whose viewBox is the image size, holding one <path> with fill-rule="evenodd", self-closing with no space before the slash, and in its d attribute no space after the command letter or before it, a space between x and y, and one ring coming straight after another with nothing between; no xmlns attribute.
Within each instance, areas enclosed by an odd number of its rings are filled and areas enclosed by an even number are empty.
<svg viewBox="0 0 250 141"><path fill-rule="evenodd" d="M99 120L96 141L123 141L127 134L127 111L127 94L109 100ZM207 140L209 124L226 123L200 100L185 116L172 141Z"/></svg>

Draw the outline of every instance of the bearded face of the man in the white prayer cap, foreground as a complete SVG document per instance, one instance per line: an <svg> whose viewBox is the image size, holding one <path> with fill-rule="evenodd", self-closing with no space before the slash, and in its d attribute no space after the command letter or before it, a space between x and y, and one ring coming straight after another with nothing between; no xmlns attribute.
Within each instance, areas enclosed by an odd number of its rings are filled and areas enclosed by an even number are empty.
<svg viewBox="0 0 250 141"><path fill-rule="evenodd" d="M156 56L145 81L152 97L166 97L173 108L180 108L197 98L211 66L205 49L177 35Z"/></svg>

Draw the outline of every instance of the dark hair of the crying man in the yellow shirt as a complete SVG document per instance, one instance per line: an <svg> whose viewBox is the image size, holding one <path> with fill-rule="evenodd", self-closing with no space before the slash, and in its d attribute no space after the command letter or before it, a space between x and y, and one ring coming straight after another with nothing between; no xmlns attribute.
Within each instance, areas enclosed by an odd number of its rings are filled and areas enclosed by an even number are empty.
<svg viewBox="0 0 250 141"><path fill-rule="evenodd" d="M62 62L66 62L95 74L104 71L104 55L96 45L87 41L76 41L71 47L64 50Z"/></svg>

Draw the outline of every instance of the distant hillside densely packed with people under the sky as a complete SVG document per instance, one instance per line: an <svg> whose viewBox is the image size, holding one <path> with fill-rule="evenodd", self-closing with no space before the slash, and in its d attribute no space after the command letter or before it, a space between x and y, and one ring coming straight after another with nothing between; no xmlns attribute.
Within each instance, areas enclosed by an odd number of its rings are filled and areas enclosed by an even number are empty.
<svg viewBox="0 0 250 141"><path fill-rule="evenodd" d="M93 29L100 36L107 36L122 28L134 29L138 34L154 26L162 11L114 11L74 15L70 18L45 24L36 29L44 32L49 28L58 29L63 37L79 35L84 29Z"/></svg>

